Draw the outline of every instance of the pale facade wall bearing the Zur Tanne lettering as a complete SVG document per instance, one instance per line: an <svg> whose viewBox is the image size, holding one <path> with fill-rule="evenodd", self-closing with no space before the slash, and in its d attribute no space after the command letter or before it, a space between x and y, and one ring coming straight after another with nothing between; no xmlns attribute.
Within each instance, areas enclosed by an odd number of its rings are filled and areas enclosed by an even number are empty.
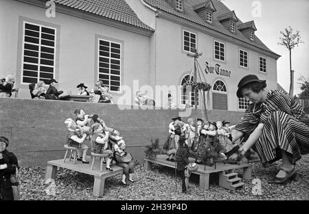
<svg viewBox="0 0 309 214"><path fill-rule="evenodd" d="M239 46L226 42L225 40L203 34L194 29L183 27L172 23L163 18L157 18L157 51L156 51L156 83L160 85L180 85L183 76L190 74L193 69L194 60L187 57L187 52L183 51L183 30L190 31L197 35L197 49L203 55L198 59L201 70L206 77L207 83L214 86L218 79L225 82L228 91L228 110L243 111L238 109L238 98L236 96L237 84L242 77L249 74L257 75L260 79L266 79L268 89L277 89L277 61L274 58L266 57L251 51L247 46ZM214 40L225 44L225 62L214 58ZM242 68L239 66L239 49L248 51L249 66ZM266 74L259 71L259 56L266 57ZM217 75L214 73L205 73L205 62L209 66L220 68L231 72L230 77ZM202 75L203 78L203 75ZM204 78L203 78L204 79ZM173 94L172 94L173 95ZM207 109L212 109L212 90L207 98ZM167 96L167 95L166 95ZM174 98L181 98L180 93ZM166 100L166 99L165 99ZM200 100L201 101L201 100ZM167 105L166 103L164 105Z"/></svg>

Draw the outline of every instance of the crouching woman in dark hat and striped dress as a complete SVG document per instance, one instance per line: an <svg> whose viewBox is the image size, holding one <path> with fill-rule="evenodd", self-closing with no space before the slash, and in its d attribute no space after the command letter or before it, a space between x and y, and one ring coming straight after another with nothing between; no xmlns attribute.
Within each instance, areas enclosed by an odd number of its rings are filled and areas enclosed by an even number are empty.
<svg viewBox="0 0 309 214"><path fill-rule="evenodd" d="M309 118L304 109L290 94L266 90L266 81L255 75L240 80L237 96L247 98L252 104L232 131L233 142L244 137L241 154L252 147L265 167L282 159L282 167L271 182L293 180L295 162L309 153Z"/></svg>

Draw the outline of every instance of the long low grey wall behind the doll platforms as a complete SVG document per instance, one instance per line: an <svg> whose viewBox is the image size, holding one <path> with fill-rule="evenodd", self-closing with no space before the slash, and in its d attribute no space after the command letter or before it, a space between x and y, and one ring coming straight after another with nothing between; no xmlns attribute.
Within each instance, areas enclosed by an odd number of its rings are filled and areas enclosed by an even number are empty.
<svg viewBox="0 0 309 214"><path fill-rule="evenodd" d="M88 114L98 114L107 126L119 131L128 151L139 163L144 163L145 146L150 145L151 139L158 137L163 147L169 135L168 124L179 115L176 109L143 110L132 106L121 109L101 103L0 98L0 136L8 137L8 150L15 153L22 165L46 165L47 161L64 157L67 137L64 122L75 118L73 111L78 108ZM242 112L237 111L209 110L207 113L209 120L230 121L231 125L242 117ZM194 116L192 111L190 117ZM197 111L196 116L201 118L201 111ZM187 118L182 119L186 122Z"/></svg>

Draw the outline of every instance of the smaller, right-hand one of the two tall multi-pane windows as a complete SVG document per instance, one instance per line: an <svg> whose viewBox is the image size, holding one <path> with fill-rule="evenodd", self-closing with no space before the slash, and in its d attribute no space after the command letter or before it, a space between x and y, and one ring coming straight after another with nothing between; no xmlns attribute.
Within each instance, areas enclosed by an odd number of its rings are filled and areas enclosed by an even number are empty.
<svg viewBox="0 0 309 214"><path fill-rule="evenodd" d="M113 92L119 92L121 72L121 44L99 39L99 80Z"/></svg>

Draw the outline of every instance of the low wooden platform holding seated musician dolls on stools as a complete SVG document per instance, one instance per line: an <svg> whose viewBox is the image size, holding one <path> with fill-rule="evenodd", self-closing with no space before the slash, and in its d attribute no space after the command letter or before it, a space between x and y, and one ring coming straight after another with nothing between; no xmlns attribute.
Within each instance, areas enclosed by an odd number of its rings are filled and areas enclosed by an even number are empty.
<svg viewBox="0 0 309 214"><path fill-rule="evenodd" d="M87 160L88 161L91 160L91 157L87 156ZM98 161L93 165L93 170L91 170L90 164L84 164L81 161L77 162L76 164L73 164L72 161L66 161L64 163L63 159L58 159L47 162L45 180L50 178L55 179L57 175L57 168L65 168L68 170L93 175L94 176L93 196L97 197L103 196L105 178L123 173L123 168L120 168L117 165L113 165L111 167L113 169L113 172L110 170L103 170L102 172L100 172L100 163Z"/></svg>

